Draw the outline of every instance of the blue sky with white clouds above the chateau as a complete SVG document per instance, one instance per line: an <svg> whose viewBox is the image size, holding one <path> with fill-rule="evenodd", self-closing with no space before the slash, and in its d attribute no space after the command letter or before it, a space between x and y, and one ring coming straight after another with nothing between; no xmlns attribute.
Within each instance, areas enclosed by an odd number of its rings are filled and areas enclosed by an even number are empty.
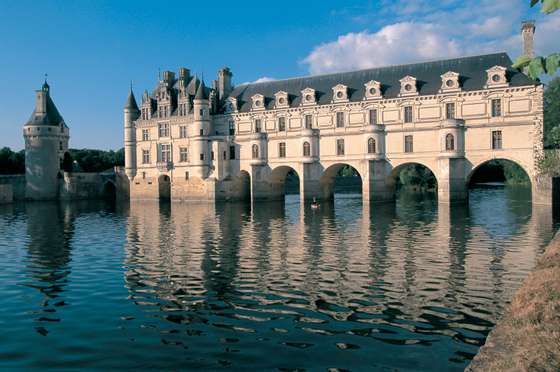
<svg viewBox="0 0 560 372"><path fill-rule="evenodd" d="M466 4L465 4L466 3ZM196 4L196 5L193 5ZM522 19L537 20L537 52L560 49L559 15L528 0L26 1L0 5L0 147L21 127L48 73L74 148L122 147L122 106L158 69L185 66L234 83L508 51Z"/></svg>

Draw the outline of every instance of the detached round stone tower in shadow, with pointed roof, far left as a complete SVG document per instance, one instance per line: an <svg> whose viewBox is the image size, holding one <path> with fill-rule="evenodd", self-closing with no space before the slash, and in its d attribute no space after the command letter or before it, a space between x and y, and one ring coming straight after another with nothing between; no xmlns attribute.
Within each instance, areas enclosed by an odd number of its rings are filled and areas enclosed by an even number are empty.
<svg viewBox="0 0 560 372"><path fill-rule="evenodd" d="M35 110L23 127L26 199L58 198L60 163L68 150L69 137L45 80L41 90L36 91Z"/></svg>

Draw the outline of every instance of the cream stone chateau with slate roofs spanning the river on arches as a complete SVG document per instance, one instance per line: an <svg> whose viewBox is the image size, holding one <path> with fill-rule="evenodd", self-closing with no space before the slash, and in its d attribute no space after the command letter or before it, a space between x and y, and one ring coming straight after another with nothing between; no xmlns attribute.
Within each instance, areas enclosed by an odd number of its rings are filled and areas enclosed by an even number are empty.
<svg viewBox="0 0 560 372"><path fill-rule="evenodd" d="M534 24L522 26L532 55ZM543 86L505 53L372 68L234 87L223 68L208 87L187 68L165 71L124 108L132 199L279 199L295 171L304 199L333 195L344 166L364 200L394 196L406 164L429 168L440 202L463 201L492 159L519 164L539 189Z"/></svg>

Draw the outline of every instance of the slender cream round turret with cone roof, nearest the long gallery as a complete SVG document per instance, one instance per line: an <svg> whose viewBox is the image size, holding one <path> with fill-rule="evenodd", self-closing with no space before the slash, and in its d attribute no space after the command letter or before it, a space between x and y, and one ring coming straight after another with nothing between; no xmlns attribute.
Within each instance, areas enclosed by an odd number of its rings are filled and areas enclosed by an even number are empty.
<svg viewBox="0 0 560 372"><path fill-rule="evenodd" d="M200 81L193 100L193 123L190 125L190 143L193 175L200 178L208 177L211 163L210 143L210 103L206 96L204 81Z"/></svg>

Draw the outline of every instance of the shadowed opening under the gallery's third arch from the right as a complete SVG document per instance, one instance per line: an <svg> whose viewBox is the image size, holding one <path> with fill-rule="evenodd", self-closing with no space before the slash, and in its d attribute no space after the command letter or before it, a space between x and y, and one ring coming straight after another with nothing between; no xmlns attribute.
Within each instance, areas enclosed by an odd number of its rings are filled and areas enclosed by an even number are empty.
<svg viewBox="0 0 560 372"><path fill-rule="evenodd" d="M362 194L362 175L356 168L347 163L335 163L327 167L319 184L321 197L325 200L334 199L334 194Z"/></svg>

